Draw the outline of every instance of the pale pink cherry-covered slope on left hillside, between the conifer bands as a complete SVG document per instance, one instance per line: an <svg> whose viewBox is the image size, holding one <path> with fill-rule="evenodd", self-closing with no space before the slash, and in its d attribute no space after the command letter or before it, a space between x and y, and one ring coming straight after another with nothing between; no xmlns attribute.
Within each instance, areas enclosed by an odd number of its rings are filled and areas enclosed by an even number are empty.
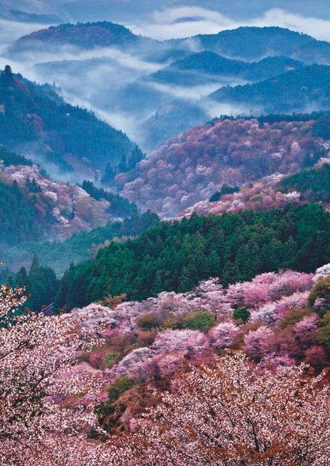
<svg viewBox="0 0 330 466"><path fill-rule="evenodd" d="M97 201L77 185L63 181L53 181L40 172L36 165L9 165L1 170L2 202L1 243L16 246L21 241L40 241L40 239L65 239L81 230L105 225L110 220L110 202ZM24 207L16 202L6 201L6 193L15 191L17 202L24 202ZM12 208L8 209L8 205ZM34 223L38 224L40 234L34 234L27 225L17 228L16 235L6 232L6 225L13 228L13 221L7 221L10 215L17 222L18 216L24 216L24 210L33 213ZM33 225L31 223L31 225ZM20 231L29 235L22 238Z"/></svg>

